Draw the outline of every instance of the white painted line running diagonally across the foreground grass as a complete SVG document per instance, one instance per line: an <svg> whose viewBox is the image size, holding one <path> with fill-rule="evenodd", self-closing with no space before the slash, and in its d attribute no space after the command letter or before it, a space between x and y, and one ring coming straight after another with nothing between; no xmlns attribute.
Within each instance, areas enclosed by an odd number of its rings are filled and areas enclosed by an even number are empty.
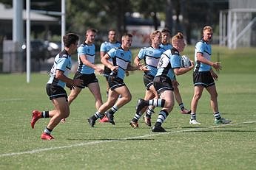
<svg viewBox="0 0 256 170"><path fill-rule="evenodd" d="M237 124L223 124L222 126L218 126L218 127L234 126L234 125L238 125L238 124L253 124L253 123L256 123L256 121L245 121L245 122L241 122L241 123L237 123ZM66 149L66 148L85 146L85 145L90 145L90 144L101 144L101 143L114 142L114 141L124 141L124 140L129 140L129 139L136 139L136 138L146 138L146 137L152 137L152 136L155 136L155 135L169 135L169 134L179 133L179 132L196 132L198 130L211 129L211 128L214 128L214 127L216 127L216 126L198 127L198 128L191 129L191 130L178 130L178 131L172 131L172 132L157 132L157 133L152 133L152 134L148 134L148 135L134 136L134 137L129 137L129 138L120 138L120 139L115 139L115 140L82 142L80 144L72 144L72 145L66 145L66 146L55 146L55 147L42 148L42 149L33 149L33 150L30 150L30 151L26 151L26 152L6 153L6 154L1 154L0 157L9 157L9 156L16 156L16 155L24 155L24 154L34 154L34 153L38 153L38 152L44 152L44 151L50 151L50 150L56 150L56 149Z"/></svg>

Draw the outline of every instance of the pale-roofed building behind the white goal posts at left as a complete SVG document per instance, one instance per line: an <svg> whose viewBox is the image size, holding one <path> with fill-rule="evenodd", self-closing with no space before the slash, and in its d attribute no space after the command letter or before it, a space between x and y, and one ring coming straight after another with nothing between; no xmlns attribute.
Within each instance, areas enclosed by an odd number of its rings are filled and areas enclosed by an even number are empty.
<svg viewBox="0 0 256 170"><path fill-rule="evenodd" d="M26 10L22 12L22 18L24 21L24 36L26 35ZM13 39L13 8L7 7L0 3L0 72L3 71L3 65L5 67L4 72L23 71L22 68L17 68L15 64L16 60L22 63L21 57L17 58L16 53L10 48L10 41ZM47 39L48 32L50 32L50 26L59 26L61 32L60 19L49 15L43 15L30 11L30 26L32 32L45 32L45 39ZM6 43L4 43L6 42ZM7 44L4 47L4 44ZM9 44L9 45L8 45ZM20 54L22 56L22 54ZM19 64L20 65L20 64Z"/></svg>

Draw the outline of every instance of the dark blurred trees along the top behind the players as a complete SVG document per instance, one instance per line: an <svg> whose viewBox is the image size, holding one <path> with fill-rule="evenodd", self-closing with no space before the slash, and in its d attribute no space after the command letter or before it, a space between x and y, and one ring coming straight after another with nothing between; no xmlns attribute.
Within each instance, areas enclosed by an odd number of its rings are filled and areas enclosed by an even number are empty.
<svg viewBox="0 0 256 170"><path fill-rule="evenodd" d="M61 0L30 1L32 10L61 11ZM25 4L24 0L24 9ZM219 11L228 7L228 0L66 0L66 26L67 32L80 35L89 27L99 32L112 28L121 35L127 31L127 17L137 12L141 18L152 20L155 29L164 21L172 35L183 32L187 43L191 43L192 38L200 36L204 25L211 25L218 33Z"/></svg>

